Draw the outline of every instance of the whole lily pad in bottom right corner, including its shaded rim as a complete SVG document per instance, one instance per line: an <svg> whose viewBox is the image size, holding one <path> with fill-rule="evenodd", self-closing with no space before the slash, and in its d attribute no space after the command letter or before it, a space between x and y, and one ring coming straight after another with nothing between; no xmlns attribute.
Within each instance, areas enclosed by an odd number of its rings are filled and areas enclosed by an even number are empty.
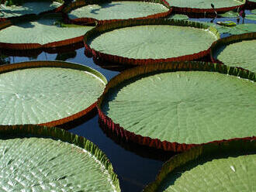
<svg viewBox="0 0 256 192"><path fill-rule="evenodd" d="M172 157L149 191L253 191L255 138L197 146Z"/></svg>

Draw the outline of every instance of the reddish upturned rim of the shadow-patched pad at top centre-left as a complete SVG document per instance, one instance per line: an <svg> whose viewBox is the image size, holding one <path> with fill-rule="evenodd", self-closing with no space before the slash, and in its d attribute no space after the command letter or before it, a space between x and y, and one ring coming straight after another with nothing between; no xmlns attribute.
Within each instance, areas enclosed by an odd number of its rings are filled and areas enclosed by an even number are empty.
<svg viewBox="0 0 256 192"><path fill-rule="evenodd" d="M123 2L125 1L129 1L129 0L121 0ZM168 8L168 12L161 12L161 13L156 13L154 15L147 15L144 17L139 17L139 18L132 18L132 19L157 19L157 18L164 18L168 15L171 14L172 12L172 8L170 8L168 2L166 2L165 0L136 0L137 2L154 2L154 3L158 3L161 5L164 5L166 8ZM68 14L69 12L71 12L74 9L78 9L80 7L86 6L86 5L95 5L95 4L102 4L105 2L109 2L108 0L103 0L103 1L99 1L99 0L89 0L89 1L84 1L84 0L78 0L75 2L72 2L71 4L67 5L67 7L65 7L63 9L63 12L65 14ZM112 2L119 2L119 0L114 0ZM77 19L69 19L68 15L66 15L66 19L67 22L73 22L73 23L78 23L78 24L92 24L92 23L97 23L97 25L103 25L103 24L107 24L110 22L116 22L116 21L123 21L126 19L103 19L103 20L99 20L99 19L94 19L94 18L77 18Z"/></svg>

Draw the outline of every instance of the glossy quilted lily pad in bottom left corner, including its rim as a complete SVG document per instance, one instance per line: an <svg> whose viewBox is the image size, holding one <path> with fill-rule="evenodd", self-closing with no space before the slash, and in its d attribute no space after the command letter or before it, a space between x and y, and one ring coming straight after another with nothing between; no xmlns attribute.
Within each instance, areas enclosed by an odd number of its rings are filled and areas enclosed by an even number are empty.
<svg viewBox="0 0 256 192"><path fill-rule="evenodd" d="M5 191L120 191L106 155L61 129L0 126L0 153Z"/></svg>

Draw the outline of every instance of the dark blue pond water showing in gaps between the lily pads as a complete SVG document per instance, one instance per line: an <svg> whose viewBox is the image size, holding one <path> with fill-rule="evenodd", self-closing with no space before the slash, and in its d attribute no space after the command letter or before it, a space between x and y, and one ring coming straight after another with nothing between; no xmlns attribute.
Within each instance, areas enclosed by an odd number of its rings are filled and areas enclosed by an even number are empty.
<svg viewBox="0 0 256 192"><path fill-rule="evenodd" d="M211 19L192 20L209 22ZM230 18L215 19L214 22L220 20L233 20L236 22L236 19ZM244 22L256 23L256 21L250 21L247 19ZM92 58L86 57L84 52L85 48L75 50L75 53L71 53L72 57L66 61L81 63L88 67L92 67L105 75L108 81L119 74L118 71L112 70L115 69L115 65L110 64L108 69L103 68L104 66L100 67L95 64ZM28 60L57 60L58 58L60 58L60 55L57 55L57 53L52 54L43 52L37 57L6 57L5 61L8 63L18 63ZM106 153L106 156L110 159L112 166L119 177L120 187L123 192L141 191L147 183L150 183L155 179L158 170L160 170L164 163L164 160L172 156L173 153L162 153L161 151L140 147L135 144L126 145L123 142L122 145L120 145L120 143L116 143L117 141L113 141L102 131L99 127L98 118L99 116L95 113L95 115L92 115L92 117L86 122L82 122L81 125L77 125L68 131L91 140L99 146L104 153Z"/></svg>

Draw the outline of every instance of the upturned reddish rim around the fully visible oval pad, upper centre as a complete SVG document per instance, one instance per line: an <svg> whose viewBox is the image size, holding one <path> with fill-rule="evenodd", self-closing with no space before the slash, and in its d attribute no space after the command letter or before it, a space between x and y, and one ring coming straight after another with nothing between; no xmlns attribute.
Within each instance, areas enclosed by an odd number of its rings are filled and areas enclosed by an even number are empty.
<svg viewBox="0 0 256 192"><path fill-rule="evenodd" d="M185 55L181 57L171 57L166 59L133 59L128 57L120 57L108 53L101 53L98 50L92 49L88 42L94 39L96 36L101 35L102 33L106 33L112 31L114 29L120 29L130 26L147 26L147 25L169 25L169 26L189 26L198 29L209 29L211 33L213 33L217 39L220 38L220 33L213 26L207 26L202 22L192 22L189 20L177 20L177 19L128 19L119 22L112 22L108 25L96 26L95 28L89 30L85 33L84 43L85 43L85 52L88 55L92 55L95 58L99 58L101 60L106 60L113 63L119 64L128 64L128 65L141 65L141 64L151 64L151 63L162 63L162 62L171 62L171 61L180 61L180 60L195 60L202 57L205 57L209 54L210 47L207 50L202 50L199 53L193 53L190 55Z"/></svg>

